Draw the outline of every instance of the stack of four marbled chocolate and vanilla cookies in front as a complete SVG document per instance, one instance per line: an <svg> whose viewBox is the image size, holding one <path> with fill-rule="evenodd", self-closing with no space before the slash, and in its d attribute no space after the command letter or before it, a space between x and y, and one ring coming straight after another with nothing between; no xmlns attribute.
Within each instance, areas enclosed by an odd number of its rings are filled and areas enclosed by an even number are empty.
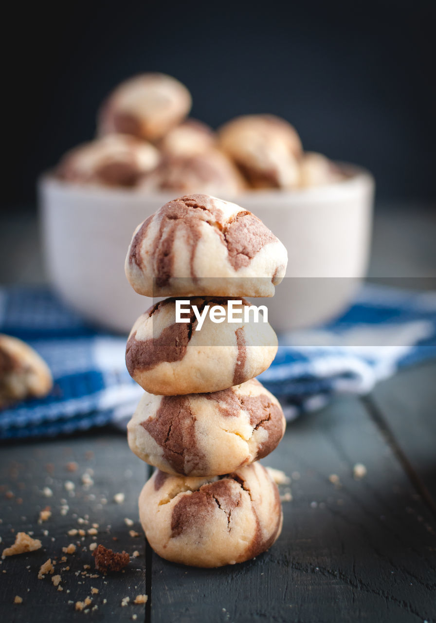
<svg viewBox="0 0 436 623"><path fill-rule="evenodd" d="M282 528L277 485L258 459L285 432L277 399L254 377L277 352L271 326L242 297L271 297L287 251L253 214L208 195L170 201L136 229L126 276L166 298L136 321L126 364L145 389L128 442L158 469L140 518L163 558L201 567L265 551Z"/></svg>

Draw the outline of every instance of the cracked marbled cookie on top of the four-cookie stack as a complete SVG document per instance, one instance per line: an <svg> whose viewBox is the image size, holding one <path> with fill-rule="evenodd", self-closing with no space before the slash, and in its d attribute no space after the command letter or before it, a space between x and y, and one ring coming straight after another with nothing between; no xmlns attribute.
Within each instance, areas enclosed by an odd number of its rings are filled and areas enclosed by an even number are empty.
<svg viewBox="0 0 436 623"><path fill-rule="evenodd" d="M192 194L137 227L125 270L148 297L272 297L287 262L283 244L251 212Z"/></svg>

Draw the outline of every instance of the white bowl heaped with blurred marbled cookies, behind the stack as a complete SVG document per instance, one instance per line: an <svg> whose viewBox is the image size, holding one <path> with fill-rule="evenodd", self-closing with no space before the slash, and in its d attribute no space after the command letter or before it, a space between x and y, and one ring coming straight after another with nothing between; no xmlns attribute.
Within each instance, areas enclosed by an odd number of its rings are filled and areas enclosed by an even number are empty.
<svg viewBox="0 0 436 623"><path fill-rule="evenodd" d="M235 204L235 219L253 212L287 248L280 293L273 299L265 294L273 327L287 331L333 318L366 272L371 174L305 152L293 126L274 115L243 115L214 131L189 117L191 103L187 88L168 75L130 78L100 108L96 138L70 150L40 178L42 238L53 287L87 320L129 331L144 311L143 297L133 295L122 269L138 222L175 199L212 196ZM258 219L245 226L255 229ZM220 227L213 228L216 235L235 247L232 234ZM191 245L191 268L220 278L212 243L204 265L204 244ZM237 265L235 280L257 252L239 248L233 260L229 254L229 271L232 261Z"/></svg>

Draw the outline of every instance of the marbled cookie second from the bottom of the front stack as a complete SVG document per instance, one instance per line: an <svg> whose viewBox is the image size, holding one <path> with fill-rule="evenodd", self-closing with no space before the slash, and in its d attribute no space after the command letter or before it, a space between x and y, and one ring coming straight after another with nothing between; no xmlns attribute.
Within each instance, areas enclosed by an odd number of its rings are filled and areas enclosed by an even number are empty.
<svg viewBox="0 0 436 623"><path fill-rule="evenodd" d="M262 459L280 443L285 417L256 379L209 394L145 393L128 424L130 449L164 472L229 473Z"/></svg>

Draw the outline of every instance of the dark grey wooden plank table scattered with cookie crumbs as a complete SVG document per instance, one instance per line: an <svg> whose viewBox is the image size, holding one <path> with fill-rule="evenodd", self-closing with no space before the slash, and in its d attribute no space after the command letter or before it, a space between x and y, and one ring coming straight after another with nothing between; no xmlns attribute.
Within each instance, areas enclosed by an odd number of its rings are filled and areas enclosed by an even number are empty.
<svg viewBox="0 0 436 623"><path fill-rule="evenodd" d="M19 229L20 245L27 236L27 254L6 242L11 235L1 235L2 253L16 264L12 275L0 272L0 283L43 279L34 219L5 223L0 231ZM435 232L428 212L380 211L371 273L434 277ZM147 468L120 433L102 429L7 444L0 452L1 547L17 531L42 541L42 549L0 564L4 621L436 621L436 364L404 371L363 399L336 399L288 425L263 461L291 477L282 535L267 553L233 567L166 563L143 536L130 533L141 535L136 503ZM72 462L74 472L67 467ZM360 479L353 473L358 463L367 470ZM74 487L65 488L67 481ZM114 501L120 492L121 504ZM38 523L45 506L52 515ZM88 535L93 523L97 535ZM70 536L72 529L86 535ZM105 577L95 572L93 542L136 556L124 573ZM74 554L62 552L69 543L77 545ZM47 558L57 559L62 591L52 576L37 578ZM148 595L146 606L132 603L138 594ZM14 604L16 595L21 604ZM88 612L76 611L75 602L87 596ZM126 606L123 597L130 597Z"/></svg>

